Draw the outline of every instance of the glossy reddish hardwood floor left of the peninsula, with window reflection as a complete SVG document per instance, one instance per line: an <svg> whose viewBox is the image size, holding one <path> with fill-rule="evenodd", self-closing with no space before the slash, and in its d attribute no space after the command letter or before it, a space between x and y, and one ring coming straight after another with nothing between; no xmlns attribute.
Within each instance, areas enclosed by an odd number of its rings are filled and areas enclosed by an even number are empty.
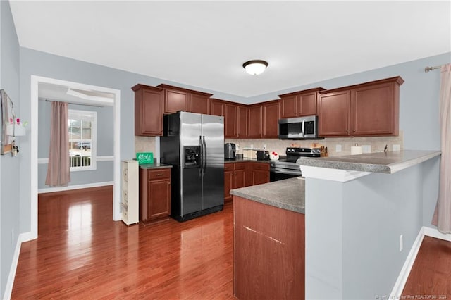
<svg viewBox="0 0 451 300"><path fill-rule="evenodd" d="M114 222L112 187L39 195L12 299L235 299L232 206L178 223Z"/></svg>

